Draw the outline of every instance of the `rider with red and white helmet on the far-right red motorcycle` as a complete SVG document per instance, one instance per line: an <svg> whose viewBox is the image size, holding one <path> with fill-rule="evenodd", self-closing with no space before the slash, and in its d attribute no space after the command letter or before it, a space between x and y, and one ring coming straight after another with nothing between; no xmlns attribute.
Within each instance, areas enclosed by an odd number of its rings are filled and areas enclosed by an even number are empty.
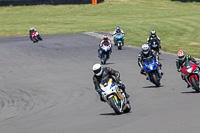
<svg viewBox="0 0 200 133"><path fill-rule="evenodd" d="M196 65L199 65L199 62L197 60L195 60L190 55L185 55L185 52L183 50L178 51L177 56L178 56L178 58L176 59L176 70L178 72L181 72L181 69L183 67L183 63L186 62L186 61L190 60L190 61L194 62ZM199 73L199 75L200 75L200 73ZM181 78L183 80L185 80L185 82L187 83L187 81L185 79L185 74L183 72L181 72ZM190 87L190 85L187 83L187 88L189 88L189 87Z"/></svg>

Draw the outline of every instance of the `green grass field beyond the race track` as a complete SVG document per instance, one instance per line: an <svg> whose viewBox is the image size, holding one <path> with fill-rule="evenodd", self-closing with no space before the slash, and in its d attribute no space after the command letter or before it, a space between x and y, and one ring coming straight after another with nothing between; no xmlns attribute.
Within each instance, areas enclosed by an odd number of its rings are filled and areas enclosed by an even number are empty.
<svg viewBox="0 0 200 133"><path fill-rule="evenodd" d="M0 25L0 36L27 35L30 27L43 35L113 32L120 26L125 43L138 47L154 29L163 51L182 49L200 58L200 3L195 2L105 0L98 5L0 7Z"/></svg>

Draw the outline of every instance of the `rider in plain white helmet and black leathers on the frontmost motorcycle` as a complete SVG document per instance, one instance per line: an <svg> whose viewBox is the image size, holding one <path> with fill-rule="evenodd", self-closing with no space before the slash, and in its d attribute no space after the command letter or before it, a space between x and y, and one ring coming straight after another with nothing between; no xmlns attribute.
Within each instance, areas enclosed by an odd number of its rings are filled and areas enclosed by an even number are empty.
<svg viewBox="0 0 200 133"><path fill-rule="evenodd" d="M122 89L126 95L126 98L129 98L129 95L125 92L125 85L121 82L120 80L120 73L116 70L113 70L112 68L109 67L102 67L100 64L94 64L93 65L93 83L95 85L95 90L98 92L100 96L100 100L104 101L101 92L100 92L100 83L107 78L112 78L117 85L119 86L120 89Z"/></svg>

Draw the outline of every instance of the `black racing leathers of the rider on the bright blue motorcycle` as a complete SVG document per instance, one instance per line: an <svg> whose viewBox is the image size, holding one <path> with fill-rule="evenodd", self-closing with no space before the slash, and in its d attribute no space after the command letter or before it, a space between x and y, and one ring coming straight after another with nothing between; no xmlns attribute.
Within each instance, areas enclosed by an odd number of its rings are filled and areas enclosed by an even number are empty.
<svg viewBox="0 0 200 133"><path fill-rule="evenodd" d="M151 50L151 49L149 50L149 52L147 54L144 54L143 51L141 51L138 55L138 65L141 69L140 73L144 74L144 61L147 58L154 58L155 62L160 66L158 72L159 72L159 75L161 77L163 75L163 72L161 71L162 64L158 61L157 53L154 50ZM144 74L144 75L146 75L146 74Z"/></svg>

